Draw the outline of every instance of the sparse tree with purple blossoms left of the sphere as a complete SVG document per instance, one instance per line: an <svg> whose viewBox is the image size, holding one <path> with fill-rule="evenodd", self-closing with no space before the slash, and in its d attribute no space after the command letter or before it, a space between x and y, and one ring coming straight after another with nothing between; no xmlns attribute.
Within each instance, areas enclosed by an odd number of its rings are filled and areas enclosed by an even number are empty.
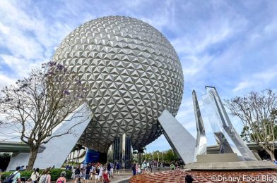
<svg viewBox="0 0 277 183"><path fill-rule="evenodd" d="M86 102L84 87L77 75L63 65L49 62L32 70L27 78L1 90L0 124L12 126L13 133L18 133L21 141L30 146L28 170L33 169L40 145L54 137L73 133L73 127L83 122L52 135L57 125ZM76 118L74 116L72 118Z"/></svg>

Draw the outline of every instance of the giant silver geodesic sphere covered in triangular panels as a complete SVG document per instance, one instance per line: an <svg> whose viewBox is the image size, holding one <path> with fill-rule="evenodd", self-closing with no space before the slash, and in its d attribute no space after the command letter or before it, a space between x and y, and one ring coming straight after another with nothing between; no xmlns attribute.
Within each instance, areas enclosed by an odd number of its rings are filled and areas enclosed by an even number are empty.
<svg viewBox="0 0 277 183"><path fill-rule="evenodd" d="M170 42L135 18L109 16L73 30L54 54L88 86L93 120L79 143L107 152L119 134L134 149L162 134L158 116L176 115L183 94L182 65Z"/></svg>

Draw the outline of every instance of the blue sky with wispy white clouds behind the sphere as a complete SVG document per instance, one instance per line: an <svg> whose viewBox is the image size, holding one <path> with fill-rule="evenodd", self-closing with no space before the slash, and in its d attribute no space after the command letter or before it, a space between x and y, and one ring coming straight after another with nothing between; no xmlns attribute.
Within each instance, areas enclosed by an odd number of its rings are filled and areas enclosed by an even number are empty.
<svg viewBox="0 0 277 183"><path fill-rule="evenodd" d="M138 18L162 32L184 70L177 120L196 137L191 92L205 85L222 99L277 89L277 1L0 1L0 86L52 58L64 37L105 15ZM204 108L208 144L214 144ZM232 118L237 131L240 121ZM170 146L160 137L147 151Z"/></svg>

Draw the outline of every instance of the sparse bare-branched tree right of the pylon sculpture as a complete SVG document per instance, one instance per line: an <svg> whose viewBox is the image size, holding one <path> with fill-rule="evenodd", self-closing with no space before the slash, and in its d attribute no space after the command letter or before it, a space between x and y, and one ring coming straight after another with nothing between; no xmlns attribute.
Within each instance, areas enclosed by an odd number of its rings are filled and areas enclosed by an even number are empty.
<svg viewBox="0 0 277 183"><path fill-rule="evenodd" d="M275 158L276 94L270 89L260 93L250 92L247 96L236 96L225 101L225 106L242 121L242 137L257 142L271 159Z"/></svg>

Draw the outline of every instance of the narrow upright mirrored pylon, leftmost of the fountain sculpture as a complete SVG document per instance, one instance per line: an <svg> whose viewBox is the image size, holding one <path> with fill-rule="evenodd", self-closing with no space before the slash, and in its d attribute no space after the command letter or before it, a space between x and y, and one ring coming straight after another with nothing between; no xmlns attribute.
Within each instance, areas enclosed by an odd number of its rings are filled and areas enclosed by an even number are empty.
<svg viewBox="0 0 277 183"><path fill-rule="evenodd" d="M195 145L195 153L194 153L194 161L197 160L197 155L202 155L207 153L207 139L205 133L204 123L201 117L201 111L199 108L199 103L197 101L196 92L192 92L192 101L194 103L194 115L196 122L196 145Z"/></svg>

